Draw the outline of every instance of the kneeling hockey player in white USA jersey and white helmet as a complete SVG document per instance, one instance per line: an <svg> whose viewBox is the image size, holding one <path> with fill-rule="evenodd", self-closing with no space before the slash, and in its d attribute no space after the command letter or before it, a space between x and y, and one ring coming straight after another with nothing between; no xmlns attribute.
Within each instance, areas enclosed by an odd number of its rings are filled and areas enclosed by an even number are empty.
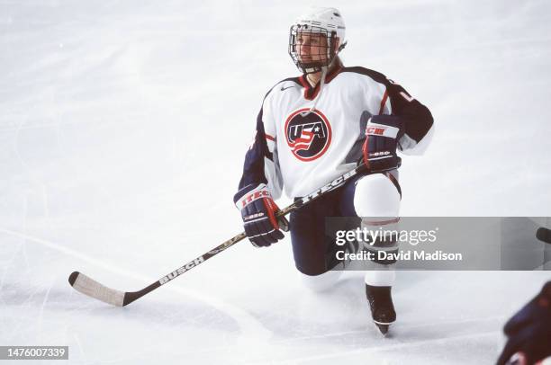
<svg viewBox="0 0 551 365"><path fill-rule="evenodd" d="M316 290L329 289L339 273L331 271L339 264L337 247L326 243L324 219L363 217L362 224L373 227L395 222L402 194L396 149L422 152L432 134L429 109L401 85L364 67L343 66L339 52L346 44L337 9L315 8L294 22L288 52L302 76L266 94L234 197L253 245L272 245L290 227L296 268ZM296 210L289 225L276 219L274 199L283 188L289 197L303 197L357 164L369 173ZM390 269L366 272L365 280L371 314L385 334L396 317L395 273L393 262L375 264Z"/></svg>

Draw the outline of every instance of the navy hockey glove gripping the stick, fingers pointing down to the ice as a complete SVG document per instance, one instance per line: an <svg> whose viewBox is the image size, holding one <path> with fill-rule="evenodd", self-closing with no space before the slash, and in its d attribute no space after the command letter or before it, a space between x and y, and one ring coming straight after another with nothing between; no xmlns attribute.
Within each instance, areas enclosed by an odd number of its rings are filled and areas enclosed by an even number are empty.
<svg viewBox="0 0 551 365"><path fill-rule="evenodd" d="M266 184L245 186L235 194L233 201L241 210L245 233L253 245L261 247L275 244L284 237L281 231L289 230L285 217L276 218L279 208Z"/></svg>

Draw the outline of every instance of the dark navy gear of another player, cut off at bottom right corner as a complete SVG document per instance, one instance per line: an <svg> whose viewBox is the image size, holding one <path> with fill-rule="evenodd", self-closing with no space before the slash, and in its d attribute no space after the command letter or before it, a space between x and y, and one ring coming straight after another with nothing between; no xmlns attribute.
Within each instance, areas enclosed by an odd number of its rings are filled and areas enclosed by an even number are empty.
<svg viewBox="0 0 551 365"><path fill-rule="evenodd" d="M505 324L509 337L498 365L532 365L551 356L551 281Z"/></svg>

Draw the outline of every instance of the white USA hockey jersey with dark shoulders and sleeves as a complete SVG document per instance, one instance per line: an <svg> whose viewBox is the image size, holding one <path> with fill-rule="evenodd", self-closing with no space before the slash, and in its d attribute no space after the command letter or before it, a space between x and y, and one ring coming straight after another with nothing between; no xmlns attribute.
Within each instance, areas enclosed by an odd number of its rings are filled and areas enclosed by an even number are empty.
<svg viewBox="0 0 551 365"><path fill-rule="evenodd" d="M319 89L319 83L312 88L306 76L300 76L277 83L266 94L239 189L265 182L275 199L282 187L289 197L315 191L357 164L366 120L375 114L406 120L399 141L403 153L420 152L429 142L429 109L378 72L335 67L309 113Z"/></svg>

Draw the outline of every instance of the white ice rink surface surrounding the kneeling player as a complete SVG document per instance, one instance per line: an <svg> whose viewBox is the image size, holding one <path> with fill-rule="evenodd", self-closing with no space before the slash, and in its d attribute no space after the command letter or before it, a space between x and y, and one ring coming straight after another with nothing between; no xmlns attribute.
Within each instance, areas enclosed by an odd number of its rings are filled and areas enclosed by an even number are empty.
<svg viewBox="0 0 551 365"><path fill-rule="evenodd" d="M435 116L426 156L404 157L404 216L551 215L550 4L332 4L345 64ZM236 245L129 307L69 287L80 271L140 289L239 232L242 157L262 97L296 75L287 31L302 11L0 3L0 344L68 345L82 364L495 360L503 322L547 272L398 272L388 338L359 273L314 295L287 239Z"/></svg>

